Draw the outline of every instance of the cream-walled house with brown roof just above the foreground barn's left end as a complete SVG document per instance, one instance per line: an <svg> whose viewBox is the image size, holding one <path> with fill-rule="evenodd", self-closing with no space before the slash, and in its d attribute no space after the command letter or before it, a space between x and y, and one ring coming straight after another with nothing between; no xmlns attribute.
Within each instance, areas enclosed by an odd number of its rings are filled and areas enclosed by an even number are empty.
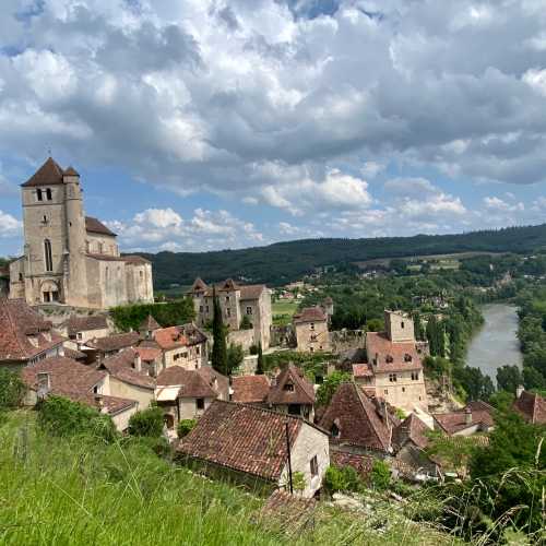
<svg viewBox="0 0 546 546"><path fill-rule="evenodd" d="M155 400L168 429L175 429L180 420L201 417L216 399L229 400L229 381L211 366L170 366L157 376Z"/></svg>

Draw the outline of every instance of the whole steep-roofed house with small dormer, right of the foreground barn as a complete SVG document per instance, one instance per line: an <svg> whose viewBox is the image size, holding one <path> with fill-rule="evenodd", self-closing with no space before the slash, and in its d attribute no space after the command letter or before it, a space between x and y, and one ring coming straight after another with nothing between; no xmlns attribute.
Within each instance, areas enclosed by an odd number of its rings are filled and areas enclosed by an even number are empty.
<svg viewBox="0 0 546 546"><path fill-rule="evenodd" d="M392 434L400 420L384 401L368 397L355 382L343 382L319 425L330 432L332 451L387 456L393 453Z"/></svg>

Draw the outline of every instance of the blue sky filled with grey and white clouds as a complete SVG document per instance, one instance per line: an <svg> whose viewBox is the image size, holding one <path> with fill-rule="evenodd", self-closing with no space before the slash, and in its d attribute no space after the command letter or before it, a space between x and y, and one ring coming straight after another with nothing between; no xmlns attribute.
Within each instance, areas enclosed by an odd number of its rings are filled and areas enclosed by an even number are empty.
<svg viewBox="0 0 546 546"><path fill-rule="evenodd" d="M49 153L128 251L546 217L546 0L2 0L0 256Z"/></svg>

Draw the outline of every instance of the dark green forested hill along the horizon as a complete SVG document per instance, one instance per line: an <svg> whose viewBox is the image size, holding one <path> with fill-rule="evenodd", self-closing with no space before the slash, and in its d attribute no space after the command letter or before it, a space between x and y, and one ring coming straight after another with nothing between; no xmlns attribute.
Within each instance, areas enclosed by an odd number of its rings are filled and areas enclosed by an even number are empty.
<svg viewBox="0 0 546 546"><path fill-rule="evenodd" d="M152 261L156 288L226 277L285 284L316 268L412 254L467 251L532 252L546 250L546 224L459 235L417 235L373 239L306 239L268 247L214 252L159 252L141 256Z"/></svg>

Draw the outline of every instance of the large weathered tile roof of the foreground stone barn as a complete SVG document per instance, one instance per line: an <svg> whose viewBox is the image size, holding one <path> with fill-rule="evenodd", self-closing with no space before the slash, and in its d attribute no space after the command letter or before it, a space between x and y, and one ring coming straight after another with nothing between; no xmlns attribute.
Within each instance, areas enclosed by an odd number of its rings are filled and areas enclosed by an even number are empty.
<svg viewBox="0 0 546 546"><path fill-rule="evenodd" d="M277 482L287 463L286 424L294 446L302 419L257 406L215 400L177 451ZM309 425L310 426L310 425Z"/></svg>

